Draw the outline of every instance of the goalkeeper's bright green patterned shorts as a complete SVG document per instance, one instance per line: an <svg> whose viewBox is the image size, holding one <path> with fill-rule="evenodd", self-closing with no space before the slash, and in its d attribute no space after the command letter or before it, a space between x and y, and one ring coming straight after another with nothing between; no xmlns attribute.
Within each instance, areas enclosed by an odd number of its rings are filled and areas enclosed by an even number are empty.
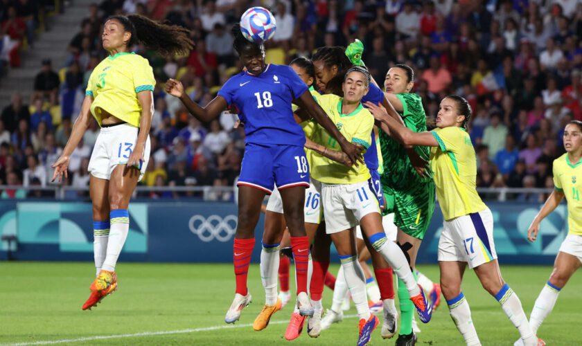
<svg viewBox="0 0 582 346"><path fill-rule="evenodd" d="M386 208L384 215L394 212L394 224L411 237L423 239L434 212L434 181L414 185L408 190L394 190L382 185Z"/></svg>

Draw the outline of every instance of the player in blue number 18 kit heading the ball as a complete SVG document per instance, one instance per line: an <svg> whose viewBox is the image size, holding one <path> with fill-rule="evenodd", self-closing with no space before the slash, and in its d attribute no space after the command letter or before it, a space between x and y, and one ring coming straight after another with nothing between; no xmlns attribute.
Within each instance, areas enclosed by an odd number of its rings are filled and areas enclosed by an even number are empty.
<svg viewBox="0 0 582 346"><path fill-rule="evenodd" d="M234 48L245 71L233 75L216 98L200 107L184 92L177 80L166 83L166 92L179 98L198 120L208 122L234 105L245 123L245 155L238 179L238 224L233 246L236 295L225 322L240 318L240 311L251 302L247 271L254 248L254 229L265 194L279 188L285 221L290 235L297 272L297 307L303 316L312 316L307 295L309 242L303 225L305 189L309 186L309 165L303 145L305 135L293 117L292 102L306 109L337 140L352 162L362 161L360 149L349 143L321 107L313 100L307 85L289 66L265 64L265 47L247 41L240 26L232 29ZM278 251L279 244L263 244Z"/></svg>

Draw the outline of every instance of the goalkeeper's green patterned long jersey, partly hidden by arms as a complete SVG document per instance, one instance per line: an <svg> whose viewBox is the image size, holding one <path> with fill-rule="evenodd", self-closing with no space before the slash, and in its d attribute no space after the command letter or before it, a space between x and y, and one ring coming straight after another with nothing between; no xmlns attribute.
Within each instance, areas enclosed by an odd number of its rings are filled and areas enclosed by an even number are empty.
<svg viewBox="0 0 582 346"><path fill-rule="evenodd" d="M414 132L426 131L426 115L421 97L416 93L399 93L396 97L402 102L403 112L400 114L406 127ZM395 190L404 190L418 183L427 183L431 176L418 176L406 154L403 145L392 139L384 131L380 131L380 148L384 172L380 176L382 185ZM430 147L415 146L414 150L428 160Z"/></svg>

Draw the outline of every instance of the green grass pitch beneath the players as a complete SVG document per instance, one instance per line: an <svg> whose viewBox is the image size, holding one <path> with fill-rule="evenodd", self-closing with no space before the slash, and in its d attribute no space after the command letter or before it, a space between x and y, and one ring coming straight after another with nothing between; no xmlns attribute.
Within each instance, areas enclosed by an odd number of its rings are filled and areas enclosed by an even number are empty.
<svg viewBox="0 0 582 346"><path fill-rule="evenodd" d="M123 260L122 260L123 261ZM437 266L419 266L438 280ZM331 270L337 272L337 265ZM505 280L518 293L527 316L552 271L550 266L503 266ZM293 268L291 268L293 273ZM254 300L237 325L224 324L224 313L233 298L234 275L230 264L133 264L117 268L119 289L93 311L82 311L93 279L91 263L1 262L0 344L37 343L79 339L82 345L271 345L283 338L292 311L285 307L263 331L249 325L264 302L258 265L249 270ZM293 284L294 280L290 280ZM547 345L580 345L582 328L582 276L574 275L563 289L553 313L538 336ZM293 289L292 289L293 291ZM513 345L518 331L500 305L482 289L472 271L466 272L463 291L473 311L473 322L483 345ZM324 291L324 307L332 293ZM347 314L355 315L355 309ZM246 327L241 325L247 325ZM420 324L418 345L464 345L448 307L443 304L428 325ZM152 332L167 332L152 335ZM128 334L143 333L143 336ZM96 339L94 336L118 336ZM346 318L323 331L319 338L303 334L294 345L354 345L358 320ZM372 345L394 345L383 340L380 327Z"/></svg>

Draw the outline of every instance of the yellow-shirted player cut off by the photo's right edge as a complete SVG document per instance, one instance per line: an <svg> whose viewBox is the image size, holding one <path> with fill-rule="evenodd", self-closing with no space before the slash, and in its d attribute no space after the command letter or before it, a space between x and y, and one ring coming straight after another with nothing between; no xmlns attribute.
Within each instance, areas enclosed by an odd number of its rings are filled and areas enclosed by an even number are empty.
<svg viewBox="0 0 582 346"><path fill-rule="evenodd" d="M553 212L565 197L568 208L568 235L554 262L554 271L540 292L529 316L531 329L536 333L545 318L554 309L558 294L564 288L582 261L582 122L572 120L564 130L566 153L554 160L554 192L549 195L544 206L533 219L527 238L535 242L540 231L540 223ZM523 345L522 340L515 343Z"/></svg>

